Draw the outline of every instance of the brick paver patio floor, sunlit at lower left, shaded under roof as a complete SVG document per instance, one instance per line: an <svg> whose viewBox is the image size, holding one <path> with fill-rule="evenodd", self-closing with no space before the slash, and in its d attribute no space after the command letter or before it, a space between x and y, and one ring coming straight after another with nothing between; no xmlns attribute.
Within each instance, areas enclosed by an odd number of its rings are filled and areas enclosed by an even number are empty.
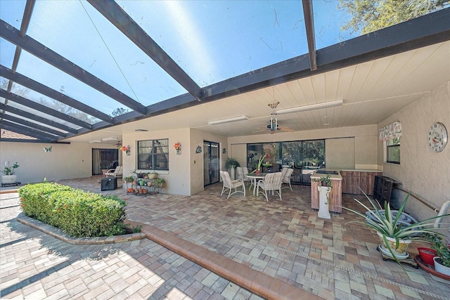
<svg viewBox="0 0 450 300"><path fill-rule="evenodd" d="M100 193L98 181L61 183ZM353 214L319 219L309 188L284 189L282 202L252 193L226 200L220 191L218 184L192 197L103 193L128 200L130 221L323 299L448 299L449 281L383 261L378 236L349 224ZM344 195L343 204L355 207L353 198ZM68 244L19 223L17 193L0 194L0 201L2 299L260 299L151 240ZM413 242L410 254L420 245Z"/></svg>

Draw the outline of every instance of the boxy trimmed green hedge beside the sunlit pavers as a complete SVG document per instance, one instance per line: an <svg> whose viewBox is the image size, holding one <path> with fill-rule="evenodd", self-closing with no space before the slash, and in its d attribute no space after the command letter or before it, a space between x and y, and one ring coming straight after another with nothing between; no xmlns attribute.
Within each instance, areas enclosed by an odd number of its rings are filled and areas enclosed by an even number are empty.
<svg viewBox="0 0 450 300"><path fill-rule="evenodd" d="M57 183L27 184L18 190L24 214L73 237L125 233L125 200L76 190Z"/></svg>

